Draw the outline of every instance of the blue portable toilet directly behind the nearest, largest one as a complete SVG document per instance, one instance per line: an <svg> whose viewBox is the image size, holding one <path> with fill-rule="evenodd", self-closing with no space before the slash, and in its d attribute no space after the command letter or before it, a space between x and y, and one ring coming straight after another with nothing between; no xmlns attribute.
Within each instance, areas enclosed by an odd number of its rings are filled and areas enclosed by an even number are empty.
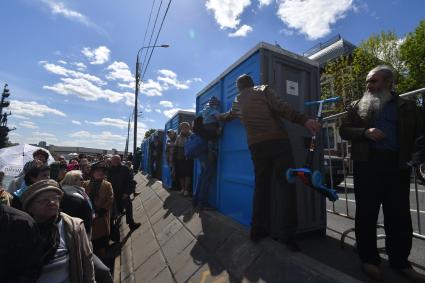
<svg viewBox="0 0 425 283"><path fill-rule="evenodd" d="M179 131L179 125L182 122L188 122L192 123L193 119L195 118L195 112L191 111L183 111L179 110L176 114L174 114L170 120L165 123L165 135L164 135L164 149L162 151L162 183L165 185L166 188L172 187L172 179L171 179L171 172L170 167L167 163L167 156L165 154L166 145L167 145L167 131L168 130L174 130L177 134L180 133Z"/></svg>

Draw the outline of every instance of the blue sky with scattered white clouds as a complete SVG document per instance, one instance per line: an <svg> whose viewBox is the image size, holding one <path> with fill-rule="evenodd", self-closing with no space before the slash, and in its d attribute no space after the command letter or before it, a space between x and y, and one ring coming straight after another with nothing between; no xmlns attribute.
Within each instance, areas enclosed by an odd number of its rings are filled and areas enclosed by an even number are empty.
<svg viewBox="0 0 425 283"><path fill-rule="evenodd" d="M160 2L1 1L10 139L123 150L136 53ZM155 50L142 84L139 141L178 109L194 109L196 93L259 41L302 54L338 33L354 44L381 31L403 37L423 11L423 0L174 0L158 40L170 48Z"/></svg>

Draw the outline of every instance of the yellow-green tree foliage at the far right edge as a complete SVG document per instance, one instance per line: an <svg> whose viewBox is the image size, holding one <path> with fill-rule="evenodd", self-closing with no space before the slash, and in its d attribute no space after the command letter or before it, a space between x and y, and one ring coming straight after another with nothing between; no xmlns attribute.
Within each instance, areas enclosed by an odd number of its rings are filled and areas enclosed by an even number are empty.
<svg viewBox="0 0 425 283"><path fill-rule="evenodd" d="M406 36L400 55L407 69L406 91L425 87L425 20Z"/></svg>

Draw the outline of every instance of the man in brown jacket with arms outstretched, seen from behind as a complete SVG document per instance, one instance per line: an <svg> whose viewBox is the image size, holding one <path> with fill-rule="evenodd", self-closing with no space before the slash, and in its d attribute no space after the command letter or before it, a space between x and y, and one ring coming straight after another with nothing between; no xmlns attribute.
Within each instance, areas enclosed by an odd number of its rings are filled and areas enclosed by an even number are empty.
<svg viewBox="0 0 425 283"><path fill-rule="evenodd" d="M239 95L229 112L220 114L217 118L222 121L240 118L246 129L255 171L251 240L258 242L270 233L270 193L272 176L275 173L282 187L281 207L284 210L282 213L284 219L281 219L279 227L279 240L297 251L299 248L295 242L298 225L296 187L288 183L284 176L286 169L294 167L293 153L288 132L279 118L304 126L311 132L319 131L320 124L291 109L269 86L254 86L252 78L248 75L240 76L236 84Z"/></svg>

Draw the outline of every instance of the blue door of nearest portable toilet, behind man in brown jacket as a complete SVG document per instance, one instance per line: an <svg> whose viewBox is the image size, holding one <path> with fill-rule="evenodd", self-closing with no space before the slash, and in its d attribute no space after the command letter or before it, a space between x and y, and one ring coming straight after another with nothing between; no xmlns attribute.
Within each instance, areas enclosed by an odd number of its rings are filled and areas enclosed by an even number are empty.
<svg viewBox="0 0 425 283"><path fill-rule="evenodd" d="M230 110L235 97L239 94L236 80L242 74L250 75L255 84L261 83L260 52L245 59L221 80L223 111ZM246 131L239 119L227 122L223 128L218 172L220 211L249 226L254 192L254 168Z"/></svg>

